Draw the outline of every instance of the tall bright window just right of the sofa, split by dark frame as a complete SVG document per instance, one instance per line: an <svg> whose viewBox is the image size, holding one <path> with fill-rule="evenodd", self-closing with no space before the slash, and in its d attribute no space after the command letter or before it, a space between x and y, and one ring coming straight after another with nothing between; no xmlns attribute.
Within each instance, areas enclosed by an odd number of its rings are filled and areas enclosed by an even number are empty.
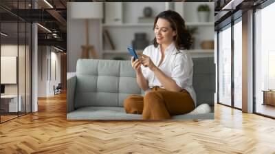
<svg viewBox="0 0 275 154"><path fill-rule="evenodd" d="M233 41L232 41L233 38ZM219 39L219 103L242 108L242 20L226 25ZM232 43L233 49L232 49ZM232 55L233 53L233 55ZM233 60L233 63L232 63ZM234 71L232 74L232 70ZM233 76L232 76L233 75ZM234 85L232 85L234 83ZM234 92L234 93L232 93ZM234 100L233 99L234 96Z"/></svg>

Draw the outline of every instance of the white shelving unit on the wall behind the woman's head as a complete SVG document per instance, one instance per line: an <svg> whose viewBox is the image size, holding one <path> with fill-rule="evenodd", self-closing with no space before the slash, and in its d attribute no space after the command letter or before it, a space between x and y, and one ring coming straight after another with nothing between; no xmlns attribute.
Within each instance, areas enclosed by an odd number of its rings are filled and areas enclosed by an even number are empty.
<svg viewBox="0 0 275 154"><path fill-rule="evenodd" d="M153 17L155 17L159 14L159 12L166 10L167 6L171 3L172 9L179 12L179 14L181 14L181 16L185 19L186 26L197 28L197 34L194 34L195 49L189 50L190 54L196 57L214 56L214 50L202 50L200 47L200 42L203 40L214 41L214 19L210 18L210 22L199 22L196 19L197 14L190 14L190 12L197 12L194 9L197 9L199 4L205 2L143 2L138 3L138 5L136 3L138 2L105 3L105 21L101 24L101 30L102 32L104 30L109 32L110 39L115 45L115 50L111 50L111 47L109 47L107 42L104 40L104 37L102 37L102 58L112 59L121 57L125 60L129 60L130 56L126 51L126 46L132 45L131 42L134 39L134 34L137 32L146 33L146 39L151 43L155 37L153 32L153 21L151 23L138 23L138 17L143 16L142 11L146 6L152 8ZM108 10L108 8L111 8L111 10ZM142 52L142 50L140 50L140 52Z"/></svg>

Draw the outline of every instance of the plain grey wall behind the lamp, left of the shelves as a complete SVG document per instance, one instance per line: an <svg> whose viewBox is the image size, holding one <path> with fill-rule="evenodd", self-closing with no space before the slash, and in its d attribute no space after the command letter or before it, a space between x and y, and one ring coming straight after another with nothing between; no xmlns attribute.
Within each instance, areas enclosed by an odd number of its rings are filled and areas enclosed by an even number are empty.
<svg viewBox="0 0 275 154"><path fill-rule="evenodd" d="M67 3L67 72L76 72L76 61L81 56L81 45L85 45L85 21L70 17L70 3ZM94 45L101 57L100 24L98 19L89 20L89 44Z"/></svg>

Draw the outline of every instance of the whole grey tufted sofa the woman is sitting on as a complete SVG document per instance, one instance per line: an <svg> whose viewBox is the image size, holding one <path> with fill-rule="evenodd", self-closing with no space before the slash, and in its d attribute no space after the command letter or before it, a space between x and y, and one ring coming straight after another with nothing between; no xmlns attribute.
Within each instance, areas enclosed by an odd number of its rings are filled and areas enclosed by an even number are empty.
<svg viewBox="0 0 275 154"><path fill-rule="evenodd" d="M213 119L215 67L212 57L193 58L193 86L197 106L207 103L210 113L174 115L173 119ZM76 73L67 75L67 120L142 120L127 114L123 101L144 94L135 80L130 61L80 59Z"/></svg>

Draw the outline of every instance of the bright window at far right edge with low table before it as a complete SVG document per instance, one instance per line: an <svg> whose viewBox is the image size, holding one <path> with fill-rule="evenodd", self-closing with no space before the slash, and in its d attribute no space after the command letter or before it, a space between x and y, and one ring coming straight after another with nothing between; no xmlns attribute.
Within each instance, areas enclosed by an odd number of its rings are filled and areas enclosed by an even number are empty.
<svg viewBox="0 0 275 154"><path fill-rule="evenodd" d="M275 117L275 107L265 104L264 91L275 89L274 14L275 3L255 12L255 109L256 113L272 117Z"/></svg>

